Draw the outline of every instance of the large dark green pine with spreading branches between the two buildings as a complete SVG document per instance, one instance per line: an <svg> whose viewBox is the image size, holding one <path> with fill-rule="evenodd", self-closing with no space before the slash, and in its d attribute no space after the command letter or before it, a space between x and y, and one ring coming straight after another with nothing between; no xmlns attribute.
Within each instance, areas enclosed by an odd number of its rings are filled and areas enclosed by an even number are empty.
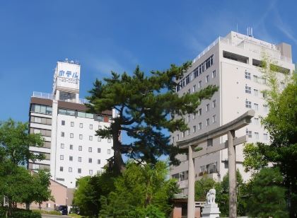
<svg viewBox="0 0 297 218"><path fill-rule="evenodd" d="M113 161L118 172L125 168L122 154L152 164L159 156L169 154L173 164L179 163L175 159L179 149L170 144L169 137L162 130L187 130L185 120L179 115L194 113L200 100L211 98L218 89L208 86L193 94L177 96L173 91L177 86L175 79L182 78L190 64L187 62L181 67L172 64L168 70L151 71L150 76L145 76L136 67L132 76L126 72L122 75L112 72L112 77L104 79L104 82L96 79L91 96L87 97L90 101L87 106L95 114L104 110L117 111L110 127L96 132L103 138L113 139ZM135 141L131 144L120 142L122 131Z"/></svg>

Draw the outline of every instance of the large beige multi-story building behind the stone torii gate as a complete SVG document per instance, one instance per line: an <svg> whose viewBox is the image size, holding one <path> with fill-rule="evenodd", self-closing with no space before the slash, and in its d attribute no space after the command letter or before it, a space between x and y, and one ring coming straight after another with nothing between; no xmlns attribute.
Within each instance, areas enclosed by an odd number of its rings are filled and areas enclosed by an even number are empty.
<svg viewBox="0 0 297 218"><path fill-rule="evenodd" d="M291 45L280 43L274 45L257 40L252 36L231 32L224 38L216 39L206 47L197 58L185 77L177 86L178 95L192 93L205 88L209 84L219 86L210 100L202 101L198 113L186 115L185 120L190 127L187 132L174 132L173 143L190 139L216 127L226 124L247 110L255 110L255 117L247 127L236 131L237 136L248 135L249 142L269 143L269 135L260 124L260 116L265 116L269 110L261 91L267 89L266 81L260 71L261 60L265 54L279 66L280 71L292 74L295 69L292 64ZM279 73L280 85L284 74ZM226 137L214 139L213 145L223 143ZM207 143L202 145L204 149ZM170 176L179 179L180 188L187 194L187 157L179 155L181 164L170 168ZM236 147L236 168L240 170L243 179L249 174L243 171L243 145ZM227 149L201 156L194 160L196 180L208 174L215 180L222 180L228 172Z"/></svg>

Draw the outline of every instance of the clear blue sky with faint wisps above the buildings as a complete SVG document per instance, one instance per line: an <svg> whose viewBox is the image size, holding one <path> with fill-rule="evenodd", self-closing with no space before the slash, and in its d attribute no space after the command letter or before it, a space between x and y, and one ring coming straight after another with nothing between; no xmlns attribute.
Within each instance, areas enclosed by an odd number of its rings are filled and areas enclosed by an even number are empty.
<svg viewBox="0 0 297 218"><path fill-rule="evenodd" d="M297 1L0 1L0 120L27 121L59 59L81 63L81 98L110 70L166 69L231 30L292 45Z"/></svg>

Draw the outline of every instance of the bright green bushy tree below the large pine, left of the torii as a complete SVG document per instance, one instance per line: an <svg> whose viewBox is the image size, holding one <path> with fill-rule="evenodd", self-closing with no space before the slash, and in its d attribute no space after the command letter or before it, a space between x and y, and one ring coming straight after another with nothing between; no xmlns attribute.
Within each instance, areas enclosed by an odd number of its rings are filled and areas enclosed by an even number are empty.
<svg viewBox="0 0 297 218"><path fill-rule="evenodd" d="M115 190L107 200L101 199L105 205L100 217L134 217L136 214L141 217L142 213L162 217L163 213L170 214L173 206L170 200L179 190L176 181L168 180L167 175L168 168L162 161L144 166L130 162L122 176L115 180Z"/></svg>

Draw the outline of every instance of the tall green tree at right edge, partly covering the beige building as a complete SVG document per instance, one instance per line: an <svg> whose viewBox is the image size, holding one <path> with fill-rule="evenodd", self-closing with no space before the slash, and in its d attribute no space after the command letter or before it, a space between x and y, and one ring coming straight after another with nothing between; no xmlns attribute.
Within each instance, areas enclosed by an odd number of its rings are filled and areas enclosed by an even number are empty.
<svg viewBox="0 0 297 218"><path fill-rule="evenodd" d="M270 144L250 144L248 149L244 149L244 165L246 170L254 171L267 166L269 162L278 166L284 178L290 217L296 217L297 77L296 74L291 78L285 75L285 79L281 82L286 85L286 88L281 91L279 77L276 76L279 67L269 63L267 59L264 63L263 76L269 86L269 89L264 91L264 96L269 106L269 113L266 117L262 117L261 122L269 133ZM253 160L255 156L257 159Z"/></svg>

